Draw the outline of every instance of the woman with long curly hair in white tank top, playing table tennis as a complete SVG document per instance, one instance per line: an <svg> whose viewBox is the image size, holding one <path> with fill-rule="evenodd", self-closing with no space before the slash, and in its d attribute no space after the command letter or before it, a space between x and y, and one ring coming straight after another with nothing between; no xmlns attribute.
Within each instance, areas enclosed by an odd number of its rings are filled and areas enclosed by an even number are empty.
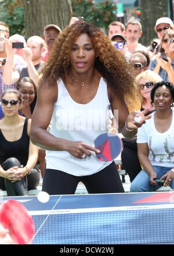
<svg viewBox="0 0 174 256"><path fill-rule="evenodd" d="M119 129L128 138L148 118L144 112L137 123L129 115L124 101L128 94L133 97L128 70L97 27L77 22L59 35L42 69L32 115L32 142L47 150L43 191L74 194L82 181L89 193L124 192L114 162L97 160L94 153L100 150L92 145L108 131L110 107L119 111Z"/></svg>

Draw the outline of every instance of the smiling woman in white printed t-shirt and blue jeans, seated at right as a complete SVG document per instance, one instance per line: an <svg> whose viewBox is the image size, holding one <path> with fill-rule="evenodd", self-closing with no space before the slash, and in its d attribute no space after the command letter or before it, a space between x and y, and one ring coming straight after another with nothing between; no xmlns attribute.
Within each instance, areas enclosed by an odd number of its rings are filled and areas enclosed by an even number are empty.
<svg viewBox="0 0 174 256"><path fill-rule="evenodd" d="M155 83L150 96L155 112L137 133L143 170L133 180L131 192L152 191L158 180L174 188L174 87L162 80Z"/></svg>

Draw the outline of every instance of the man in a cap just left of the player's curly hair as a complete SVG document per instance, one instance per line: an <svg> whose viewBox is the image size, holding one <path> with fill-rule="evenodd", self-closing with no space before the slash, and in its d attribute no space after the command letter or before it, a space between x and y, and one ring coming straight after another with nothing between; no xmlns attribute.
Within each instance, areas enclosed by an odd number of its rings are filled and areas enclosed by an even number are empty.
<svg viewBox="0 0 174 256"><path fill-rule="evenodd" d="M57 36L61 33L60 27L55 24L49 24L44 27L44 40L47 45L47 50L42 53L42 61L46 61L49 57L50 51L55 44Z"/></svg>

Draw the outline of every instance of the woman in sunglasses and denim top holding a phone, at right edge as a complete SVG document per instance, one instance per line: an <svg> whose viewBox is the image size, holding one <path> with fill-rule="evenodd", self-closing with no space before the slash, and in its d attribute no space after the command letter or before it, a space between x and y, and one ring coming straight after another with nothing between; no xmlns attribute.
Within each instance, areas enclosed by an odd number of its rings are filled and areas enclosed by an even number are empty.
<svg viewBox="0 0 174 256"><path fill-rule="evenodd" d="M164 81L174 84L174 31L167 29L161 40L161 52L151 59L150 70L158 73Z"/></svg>

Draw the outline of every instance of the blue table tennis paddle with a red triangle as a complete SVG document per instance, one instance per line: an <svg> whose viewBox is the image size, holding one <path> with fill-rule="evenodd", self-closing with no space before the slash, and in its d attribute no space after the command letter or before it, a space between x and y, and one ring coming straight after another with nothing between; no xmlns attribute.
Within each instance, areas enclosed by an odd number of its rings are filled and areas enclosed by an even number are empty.
<svg viewBox="0 0 174 256"><path fill-rule="evenodd" d="M100 150L96 157L102 162L114 160L122 150L122 140L119 136L107 132L97 136L94 144L95 148Z"/></svg>

